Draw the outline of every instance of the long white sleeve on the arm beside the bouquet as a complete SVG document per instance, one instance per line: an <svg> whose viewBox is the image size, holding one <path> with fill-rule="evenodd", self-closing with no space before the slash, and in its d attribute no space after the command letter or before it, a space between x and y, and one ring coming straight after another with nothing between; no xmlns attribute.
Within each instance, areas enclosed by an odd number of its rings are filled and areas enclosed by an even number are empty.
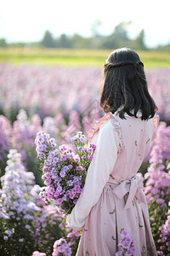
<svg viewBox="0 0 170 256"><path fill-rule="evenodd" d="M85 218L92 207L99 201L99 197L109 180L109 176L116 163L121 149L120 127L112 113L107 113L103 119L94 125L94 134L98 132L94 159L88 167L86 182L76 206L67 217L67 223L73 229L82 230Z"/></svg>

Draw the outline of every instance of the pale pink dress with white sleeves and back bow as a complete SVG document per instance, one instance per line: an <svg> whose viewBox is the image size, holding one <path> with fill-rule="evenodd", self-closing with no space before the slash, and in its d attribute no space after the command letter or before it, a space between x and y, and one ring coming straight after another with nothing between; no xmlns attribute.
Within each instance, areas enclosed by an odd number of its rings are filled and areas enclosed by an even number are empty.
<svg viewBox="0 0 170 256"><path fill-rule="evenodd" d="M94 124L94 160L77 205L67 217L72 228L82 230L77 256L114 256L121 250L122 230L135 240L136 255L157 255L150 230L143 182L137 172L159 117L126 119L107 113Z"/></svg>

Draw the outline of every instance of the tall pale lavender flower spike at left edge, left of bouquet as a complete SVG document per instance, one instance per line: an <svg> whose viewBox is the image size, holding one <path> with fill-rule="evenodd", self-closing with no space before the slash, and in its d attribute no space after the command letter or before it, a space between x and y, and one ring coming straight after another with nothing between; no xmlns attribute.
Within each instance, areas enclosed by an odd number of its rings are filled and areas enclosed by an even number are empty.
<svg viewBox="0 0 170 256"><path fill-rule="evenodd" d="M30 218L33 212L39 210L35 202L31 201L28 196L34 185L35 177L32 172L26 172L20 161L20 154L16 150L10 150L8 158L5 175L1 177L3 186L1 211L9 218L15 214L17 215L14 218L26 218L27 214Z"/></svg>

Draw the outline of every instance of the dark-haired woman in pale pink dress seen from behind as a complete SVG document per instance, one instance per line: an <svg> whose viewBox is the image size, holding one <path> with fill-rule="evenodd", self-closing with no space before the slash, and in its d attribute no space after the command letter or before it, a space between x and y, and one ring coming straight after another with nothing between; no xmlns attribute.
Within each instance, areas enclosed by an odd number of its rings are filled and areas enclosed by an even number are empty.
<svg viewBox="0 0 170 256"><path fill-rule="evenodd" d="M86 183L67 217L82 230L77 255L110 256L122 248L122 230L135 240L136 255L156 255L142 179L137 172L148 154L159 118L144 65L132 49L114 50L104 66L100 105L105 116L94 124L96 144Z"/></svg>

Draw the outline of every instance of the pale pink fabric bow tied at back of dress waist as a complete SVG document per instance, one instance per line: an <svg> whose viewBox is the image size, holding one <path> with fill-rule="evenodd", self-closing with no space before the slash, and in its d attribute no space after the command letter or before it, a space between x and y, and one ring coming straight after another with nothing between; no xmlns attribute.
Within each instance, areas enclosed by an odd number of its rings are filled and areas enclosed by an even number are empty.
<svg viewBox="0 0 170 256"><path fill-rule="evenodd" d="M139 175L135 175L121 182L117 181L117 183L108 182L105 188L112 189L113 193L119 199L122 199L124 195L128 194L124 209L131 207L134 197L138 199L138 201L146 203L144 191L142 190L143 181Z"/></svg>

